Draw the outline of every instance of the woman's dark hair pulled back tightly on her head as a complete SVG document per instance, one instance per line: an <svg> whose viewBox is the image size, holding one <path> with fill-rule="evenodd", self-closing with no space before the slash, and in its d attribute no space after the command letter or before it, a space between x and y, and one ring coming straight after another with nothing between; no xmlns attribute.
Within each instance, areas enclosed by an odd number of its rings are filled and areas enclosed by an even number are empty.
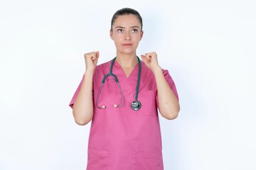
<svg viewBox="0 0 256 170"><path fill-rule="evenodd" d="M121 8L118 11L116 11L114 13L114 16L112 16L112 20L111 20L111 30L112 30L112 26L114 24L114 21L117 19L118 16L124 16L124 15L129 15L132 14L134 16L136 16L139 19L139 22L142 24L142 16L139 14L138 11L136 11L133 8ZM142 24L143 26L143 24Z"/></svg>

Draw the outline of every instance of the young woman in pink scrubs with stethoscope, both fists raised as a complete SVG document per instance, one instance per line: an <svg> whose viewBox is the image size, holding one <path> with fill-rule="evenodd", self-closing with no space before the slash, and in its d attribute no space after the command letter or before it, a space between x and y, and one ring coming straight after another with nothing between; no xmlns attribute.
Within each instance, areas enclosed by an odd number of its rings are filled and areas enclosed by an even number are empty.
<svg viewBox="0 0 256 170"><path fill-rule="evenodd" d="M122 8L112 17L110 38L117 56L97 65L100 52L85 53L85 74L70 101L75 122L92 120L87 170L162 170L159 113L174 119L180 110L174 81L156 52L137 57L142 17Z"/></svg>

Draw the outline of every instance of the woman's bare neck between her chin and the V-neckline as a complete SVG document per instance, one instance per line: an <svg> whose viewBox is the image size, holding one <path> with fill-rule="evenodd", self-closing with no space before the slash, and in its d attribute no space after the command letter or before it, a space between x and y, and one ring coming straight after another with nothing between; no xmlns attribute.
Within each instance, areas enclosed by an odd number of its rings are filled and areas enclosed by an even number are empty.
<svg viewBox="0 0 256 170"><path fill-rule="evenodd" d="M138 63L137 55L117 55L116 61L124 68L135 67Z"/></svg>

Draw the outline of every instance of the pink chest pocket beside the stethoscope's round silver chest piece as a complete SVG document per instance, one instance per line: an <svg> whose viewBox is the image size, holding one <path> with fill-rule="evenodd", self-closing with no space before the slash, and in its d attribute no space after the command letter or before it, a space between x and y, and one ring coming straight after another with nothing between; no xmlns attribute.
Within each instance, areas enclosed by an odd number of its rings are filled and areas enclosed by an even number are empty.
<svg viewBox="0 0 256 170"><path fill-rule="evenodd" d="M156 91L140 91L138 101L142 103L139 113L149 116L157 116Z"/></svg>

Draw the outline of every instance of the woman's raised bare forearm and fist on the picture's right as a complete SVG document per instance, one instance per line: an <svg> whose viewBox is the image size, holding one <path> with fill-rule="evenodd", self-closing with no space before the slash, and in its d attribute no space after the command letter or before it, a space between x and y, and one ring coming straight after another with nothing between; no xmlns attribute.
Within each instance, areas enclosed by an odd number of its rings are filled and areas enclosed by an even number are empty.
<svg viewBox="0 0 256 170"><path fill-rule="evenodd" d="M164 78L162 69L157 62L156 52L150 52L142 55L142 60L145 62L146 66L151 69L156 79L156 88L159 98L159 111L161 115L169 120L176 118L178 116L178 112L180 111L178 99Z"/></svg>

